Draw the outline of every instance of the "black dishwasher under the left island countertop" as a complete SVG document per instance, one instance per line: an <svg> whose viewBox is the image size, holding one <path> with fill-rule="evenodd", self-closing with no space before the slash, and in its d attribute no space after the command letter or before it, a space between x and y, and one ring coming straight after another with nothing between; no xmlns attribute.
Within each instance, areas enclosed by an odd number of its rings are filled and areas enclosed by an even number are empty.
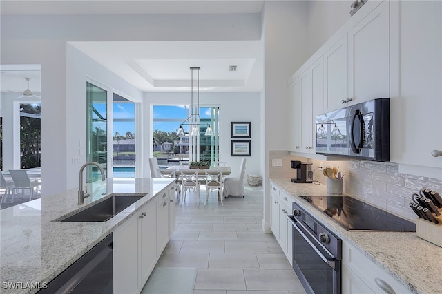
<svg viewBox="0 0 442 294"><path fill-rule="evenodd" d="M113 234L110 233L38 293L113 293L112 242Z"/></svg>

